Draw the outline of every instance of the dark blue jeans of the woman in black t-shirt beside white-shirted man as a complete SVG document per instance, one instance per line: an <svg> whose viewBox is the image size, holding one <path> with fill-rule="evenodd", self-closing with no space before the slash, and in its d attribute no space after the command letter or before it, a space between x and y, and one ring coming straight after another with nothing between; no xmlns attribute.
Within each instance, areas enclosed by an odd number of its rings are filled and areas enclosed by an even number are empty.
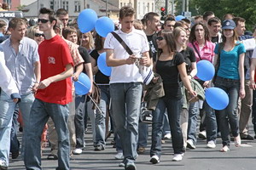
<svg viewBox="0 0 256 170"><path fill-rule="evenodd" d="M183 99L170 99L161 98L158 101L155 111L153 111L153 124L152 124L152 145L150 156L161 155L161 139L162 128L164 126L164 114L167 109L169 119L169 126L172 134L172 148L174 154L182 154L183 147L183 133L180 127L180 114L182 111Z"/></svg>

